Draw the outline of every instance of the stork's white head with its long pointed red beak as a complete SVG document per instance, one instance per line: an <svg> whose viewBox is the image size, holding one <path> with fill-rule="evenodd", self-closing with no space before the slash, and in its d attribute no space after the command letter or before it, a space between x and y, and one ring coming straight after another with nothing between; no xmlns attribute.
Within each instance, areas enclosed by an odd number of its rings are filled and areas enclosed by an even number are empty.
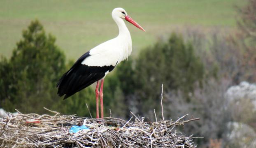
<svg viewBox="0 0 256 148"><path fill-rule="evenodd" d="M112 11L112 17L113 18L114 17L122 18L122 19L128 21L129 23L135 25L140 30L145 32L145 30L138 23L136 23L130 16L128 16L128 14L126 13L126 11L123 8L115 8Z"/></svg>

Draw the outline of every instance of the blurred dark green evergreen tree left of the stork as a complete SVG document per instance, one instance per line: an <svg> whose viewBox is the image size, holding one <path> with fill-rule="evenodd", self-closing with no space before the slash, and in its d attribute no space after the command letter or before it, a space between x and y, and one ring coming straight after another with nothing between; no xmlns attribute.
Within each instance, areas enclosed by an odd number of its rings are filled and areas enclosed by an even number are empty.
<svg viewBox="0 0 256 148"><path fill-rule="evenodd" d="M10 60L0 62L1 107L43 113L43 107L50 108L58 99L55 85L65 69L65 55L37 20L22 36Z"/></svg>

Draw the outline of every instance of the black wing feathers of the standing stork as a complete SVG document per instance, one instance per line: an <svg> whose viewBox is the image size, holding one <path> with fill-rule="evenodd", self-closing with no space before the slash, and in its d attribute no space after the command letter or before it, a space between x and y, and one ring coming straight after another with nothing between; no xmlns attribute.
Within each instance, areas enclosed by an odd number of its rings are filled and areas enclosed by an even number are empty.
<svg viewBox="0 0 256 148"><path fill-rule="evenodd" d="M89 52L82 55L74 65L67 71L58 81L58 95L65 95L64 99L70 97L74 93L90 86L95 81L102 79L107 71L111 72L114 66L87 66L81 62L90 56Z"/></svg>

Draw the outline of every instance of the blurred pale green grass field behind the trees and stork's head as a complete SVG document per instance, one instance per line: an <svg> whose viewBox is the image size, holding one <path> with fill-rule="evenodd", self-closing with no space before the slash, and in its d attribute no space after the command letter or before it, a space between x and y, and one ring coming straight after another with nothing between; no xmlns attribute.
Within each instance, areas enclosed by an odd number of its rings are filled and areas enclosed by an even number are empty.
<svg viewBox="0 0 256 148"><path fill-rule="evenodd" d="M9 57L21 39L21 31L37 18L67 58L77 59L94 46L118 34L111 12L123 7L146 32L127 23L133 54L158 37L183 26L202 28L236 25L234 6L243 0L1 0L0 55Z"/></svg>

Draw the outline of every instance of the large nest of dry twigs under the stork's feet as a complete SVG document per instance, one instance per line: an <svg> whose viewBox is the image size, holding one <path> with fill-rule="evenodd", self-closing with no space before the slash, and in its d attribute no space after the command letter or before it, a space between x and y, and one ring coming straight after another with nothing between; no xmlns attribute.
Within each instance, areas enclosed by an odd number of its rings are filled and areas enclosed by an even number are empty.
<svg viewBox="0 0 256 148"><path fill-rule="evenodd" d="M144 122L107 117L84 118L75 115L54 116L35 113L0 118L0 147L62 147L62 148L195 148L193 137L183 136L175 127L199 118L177 121ZM70 133L72 125L86 125L88 130Z"/></svg>

